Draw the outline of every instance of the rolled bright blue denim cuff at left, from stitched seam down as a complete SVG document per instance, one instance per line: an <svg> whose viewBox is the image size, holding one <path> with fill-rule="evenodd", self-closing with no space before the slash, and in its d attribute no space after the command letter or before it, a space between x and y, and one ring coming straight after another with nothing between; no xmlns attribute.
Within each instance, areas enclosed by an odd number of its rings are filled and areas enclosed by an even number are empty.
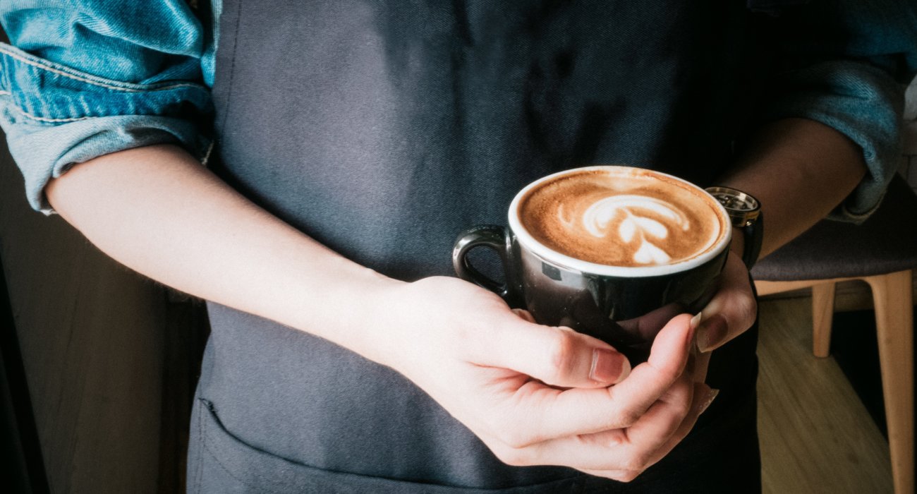
<svg viewBox="0 0 917 494"><path fill-rule="evenodd" d="M73 164L173 142L202 157L199 122L213 113L202 84L131 84L83 73L0 43L0 127L32 208L50 214L44 187Z"/></svg>

